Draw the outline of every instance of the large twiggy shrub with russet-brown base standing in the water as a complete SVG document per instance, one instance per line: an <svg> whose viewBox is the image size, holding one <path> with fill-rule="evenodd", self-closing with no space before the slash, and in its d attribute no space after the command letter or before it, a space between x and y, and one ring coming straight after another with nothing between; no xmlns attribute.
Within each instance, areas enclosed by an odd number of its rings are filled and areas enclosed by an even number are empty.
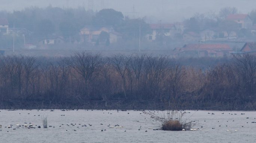
<svg viewBox="0 0 256 143"><path fill-rule="evenodd" d="M167 111L167 114L161 114L160 116L156 115L153 112L144 112L147 115L150 115L150 118L155 120L154 125L161 127L162 130L168 131L182 131L182 129L190 130L191 127L195 124L192 124L193 121L187 122L182 120L183 115L186 112L182 111Z"/></svg>

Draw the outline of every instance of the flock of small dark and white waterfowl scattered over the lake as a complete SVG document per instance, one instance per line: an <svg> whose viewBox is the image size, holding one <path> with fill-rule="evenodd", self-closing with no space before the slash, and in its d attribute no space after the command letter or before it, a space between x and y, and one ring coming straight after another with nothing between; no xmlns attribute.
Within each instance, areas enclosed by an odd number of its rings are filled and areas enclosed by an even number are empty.
<svg viewBox="0 0 256 143"><path fill-rule="evenodd" d="M51 111L54 111L54 110L51 110ZM62 110L62 111L65 111L65 110ZM88 110L87 110L88 111ZM117 110L117 112L118 112L119 110ZM150 112L150 111L149 111ZM155 111L154 111L155 112ZM103 112L104 113L104 112ZM188 113L190 113L190 112L188 112ZM21 114L21 113L19 113L19 114ZM28 113L29 114L29 113ZM108 114L112 114L112 113L110 113L110 112L108 112ZM129 114L129 112L127 113L127 114ZM141 113L140 113L141 114ZM211 115L215 115L214 113L209 113L208 112L208 114L211 114ZM224 112L223 113L221 113L221 114L224 114ZM231 113L229 113L230 115L237 115L237 114L231 114ZM244 113L241 113L241 115L245 115ZM36 115L34 115L34 116L36 116ZM38 115L38 116L40 116L40 115ZM64 114L61 114L61 116L65 116ZM146 119L146 118L145 118ZM246 119L249 119L249 117L244 117L244 119L246 120ZM254 118L255 119L255 118ZM235 120L232 120L232 121L235 121ZM205 122L205 120L204 120L204 122ZM219 122L219 121L217 121L217 122ZM228 121L226 121L226 122L228 122ZM248 123L248 122L246 122L246 123ZM252 121L252 123L256 123L256 122L254 122L254 121ZM201 123L202 124L202 123ZM66 126L76 126L77 128L79 128L79 127L90 127L90 126L92 126L92 124L76 124L76 123L70 123L70 124L65 124ZM100 123L100 125L103 125L103 123ZM216 124L217 125L217 124ZM5 126L4 128L13 128L13 126L14 125L12 125L12 124L10 124L10 125L7 125L7 126ZM62 126L64 126L64 124L60 124L58 127L62 127ZM221 127L221 125L218 125L219 127ZM228 125L226 125L226 127L227 127ZM52 126L52 125L49 125L48 127L53 127L53 128L55 128L55 126ZM241 126L241 127L244 127L244 126ZM0 125L0 131L2 131L1 130L1 128L2 128L2 125ZM41 128L41 126L40 125L34 125L33 123L24 123L23 125L20 125L20 124L16 124L16 128ZM13 128L13 130L16 130L16 128ZM107 127L106 128L124 128L124 126L121 126L121 125L119 125L119 124L116 124L116 125L110 125L110 124L108 124L107 125ZM101 129L100 131L106 131L106 128L105 129ZM203 130L202 129L203 128L203 126L201 126L201 129L200 128L191 128L190 129L190 131L209 131L209 129L205 129L205 130ZM159 127L157 127L157 128L152 128L152 127L147 127L147 129L152 129L152 130L159 130ZM215 127L213 127L213 128L211 128L211 129L215 129ZM76 129L72 129L72 130L74 130L74 131L76 131ZM140 126L140 128L138 129L138 130L141 130L141 126ZM67 131L67 130L66 130ZM126 130L125 130L126 131ZM147 130L144 130L145 132L147 132ZM183 129L182 131L185 131L185 129ZM226 131L238 131L237 129L236 130L230 130L230 129L228 129L228 130L226 130ZM7 132L9 132L9 131L7 131Z"/></svg>

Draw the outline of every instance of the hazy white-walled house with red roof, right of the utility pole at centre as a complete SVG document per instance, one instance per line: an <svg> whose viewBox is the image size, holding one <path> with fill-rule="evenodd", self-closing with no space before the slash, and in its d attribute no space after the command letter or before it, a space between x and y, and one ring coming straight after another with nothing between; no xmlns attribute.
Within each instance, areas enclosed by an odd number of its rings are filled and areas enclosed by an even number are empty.
<svg viewBox="0 0 256 143"><path fill-rule="evenodd" d="M156 40L158 35L174 36L174 33L176 32L174 24L150 24L149 26L152 30L152 34L146 35L146 38L149 41Z"/></svg>

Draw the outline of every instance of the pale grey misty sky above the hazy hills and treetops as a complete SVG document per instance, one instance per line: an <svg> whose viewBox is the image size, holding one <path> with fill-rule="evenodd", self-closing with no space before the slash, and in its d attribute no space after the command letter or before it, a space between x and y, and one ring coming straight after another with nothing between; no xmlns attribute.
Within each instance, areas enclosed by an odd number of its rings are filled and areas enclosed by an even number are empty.
<svg viewBox="0 0 256 143"><path fill-rule="evenodd" d="M88 9L89 0L1 0L1 10L22 10L25 7L72 7ZM195 13L218 13L220 8L237 7L240 13L256 9L256 0L93 0L93 10L113 8L131 18L146 16L149 22L179 22ZM91 7L91 6L90 6ZM133 8L134 7L134 8ZM135 13L134 13L135 12Z"/></svg>

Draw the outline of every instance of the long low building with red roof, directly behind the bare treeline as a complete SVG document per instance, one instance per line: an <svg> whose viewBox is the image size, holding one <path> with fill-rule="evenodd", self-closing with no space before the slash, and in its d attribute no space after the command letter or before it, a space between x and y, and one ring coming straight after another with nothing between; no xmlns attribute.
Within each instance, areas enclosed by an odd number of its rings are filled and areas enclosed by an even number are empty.
<svg viewBox="0 0 256 143"><path fill-rule="evenodd" d="M186 44L173 50L174 57L225 57L232 52L228 44Z"/></svg>

